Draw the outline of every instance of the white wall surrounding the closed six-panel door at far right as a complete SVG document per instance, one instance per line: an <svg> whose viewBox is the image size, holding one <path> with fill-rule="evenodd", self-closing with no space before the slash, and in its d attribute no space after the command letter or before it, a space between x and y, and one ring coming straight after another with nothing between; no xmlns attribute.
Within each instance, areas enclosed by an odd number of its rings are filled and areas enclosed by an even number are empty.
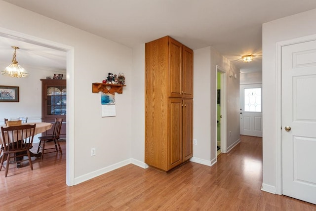
<svg viewBox="0 0 316 211"><path fill-rule="evenodd" d="M276 166L276 43L316 34L316 9L263 24L263 190L280 193ZM280 148L278 148L280 154ZM278 168L278 169L276 169ZM277 181L278 180L278 181Z"/></svg>

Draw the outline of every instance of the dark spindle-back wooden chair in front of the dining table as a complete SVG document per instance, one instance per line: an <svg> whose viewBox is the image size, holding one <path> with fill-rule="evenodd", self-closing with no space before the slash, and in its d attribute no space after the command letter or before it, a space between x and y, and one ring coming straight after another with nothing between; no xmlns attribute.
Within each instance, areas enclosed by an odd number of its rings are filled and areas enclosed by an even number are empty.
<svg viewBox="0 0 316 211"><path fill-rule="evenodd" d="M30 168L33 170L30 149L32 148L33 144L35 127L36 124L1 127L1 151L3 152L3 155L1 158L0 170L2 167L5 169L5 177L8 174L9 165L11 163L21 164L21 162L28 160ZM28 159L23 160L24 156L28 156ZM3 164L5 157L6 165ZM13 162L10 161L11 158L14 158Z"/></svg>

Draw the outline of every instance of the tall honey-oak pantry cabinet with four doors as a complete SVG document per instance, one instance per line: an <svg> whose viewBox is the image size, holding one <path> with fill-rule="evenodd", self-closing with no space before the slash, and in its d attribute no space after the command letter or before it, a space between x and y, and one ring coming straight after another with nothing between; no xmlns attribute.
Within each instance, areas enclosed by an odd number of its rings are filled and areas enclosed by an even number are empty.
<svg viewBox="0 0 316 211"><path fill-rule="evenodd" d="M166 36L145 63L145 163L168 171L193 156L193 51Z"/></svg>

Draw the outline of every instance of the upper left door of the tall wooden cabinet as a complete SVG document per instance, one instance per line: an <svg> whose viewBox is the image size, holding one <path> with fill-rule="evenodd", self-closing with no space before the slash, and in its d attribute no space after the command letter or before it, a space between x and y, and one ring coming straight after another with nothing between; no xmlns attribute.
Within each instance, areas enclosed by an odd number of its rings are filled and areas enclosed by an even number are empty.
<svg viewBox="0 0 316 211"><path fill-rule="evenodd" d="M182 97L182 44L169 38L169 97Z"/></svg>

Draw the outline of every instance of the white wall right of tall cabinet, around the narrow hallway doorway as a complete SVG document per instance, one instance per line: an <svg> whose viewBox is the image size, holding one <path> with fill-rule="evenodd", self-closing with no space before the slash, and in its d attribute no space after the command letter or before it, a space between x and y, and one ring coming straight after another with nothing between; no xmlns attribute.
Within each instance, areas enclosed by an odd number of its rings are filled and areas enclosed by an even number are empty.
<svg viewBox="0 0 316 211"><path fill-rule="evenodd" d="M194 50L193 136L197 139L197 145L193 148L192 161L205 165L216 162L217 65L227 72L227 147L234 147L240 140L239 77L229 77L229 71L239 73L239 69L212 47Z"/></svg>

